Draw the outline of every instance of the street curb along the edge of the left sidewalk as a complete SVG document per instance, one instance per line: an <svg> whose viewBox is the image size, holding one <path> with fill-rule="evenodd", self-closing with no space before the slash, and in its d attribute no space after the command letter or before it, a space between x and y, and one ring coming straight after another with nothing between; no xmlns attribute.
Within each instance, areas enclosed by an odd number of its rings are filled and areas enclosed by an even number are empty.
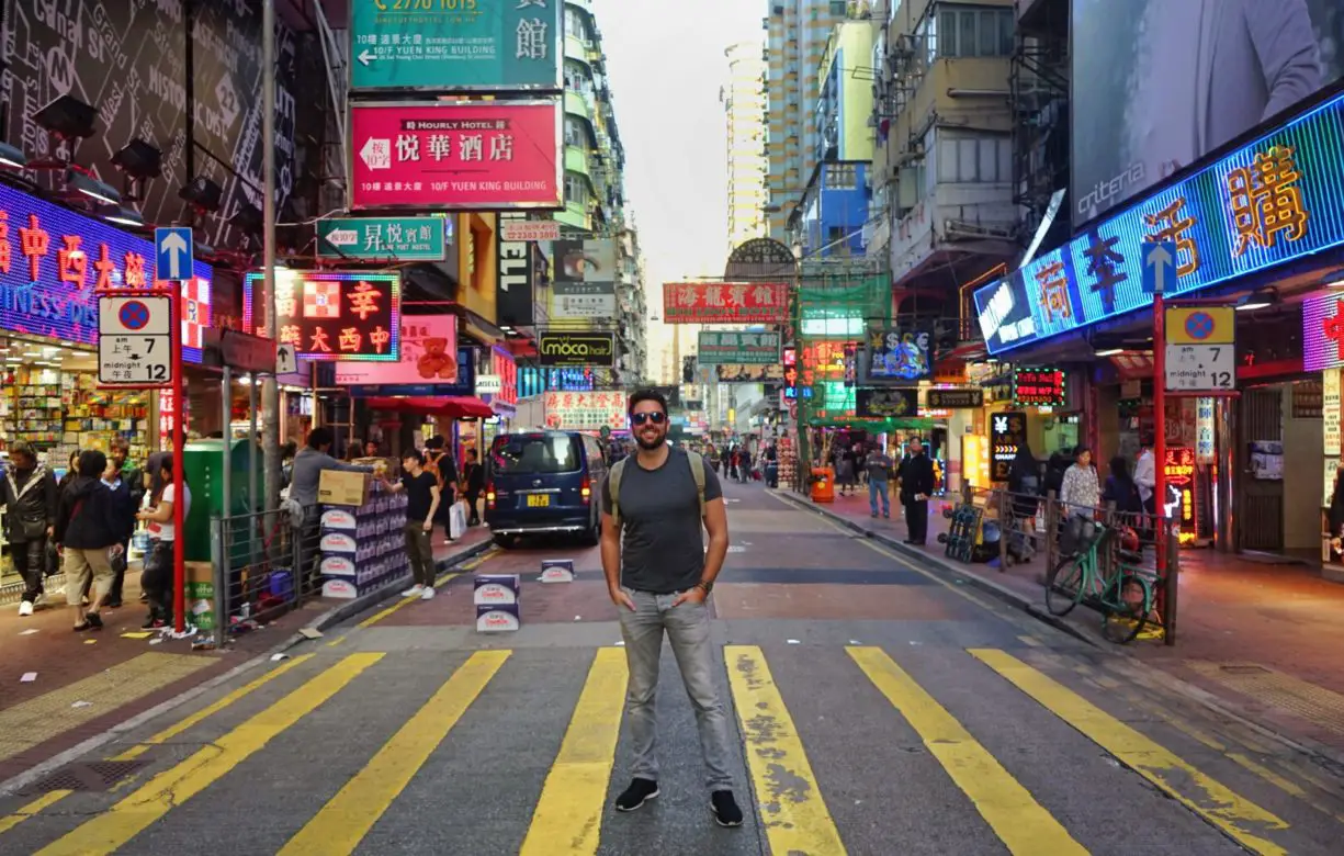
<svg viewBox="0 0 1344 856"><path fill-rule="evenodd" d="M442 559L439 562L435 562L434 563L434 566L435 566L435 578L439 576L439 575L442 575L442 574L446 574L454 566L461 564L461 563L464 563L464 562L466 562L469 559L473 559L473 558L481 555L482 552L488 551L493 546L495 546L495 542L492 542L491 539L485 539L485 540L480 542L478 544L472 544L470 547L468 547L466 550L464 550L460 554L454 554L453 556L449 556L448 559ZM406 582L410 578L411 578L411 575L406 574L403 576L396 578L392 582L388 582L386 586L379 587L376 591L370 591L368 594L366 594L363 597L359 597L359 598L355 598L353 601L351 601L348 603L341 603L340 606L332 607L332 609L327 610L325 613L323 613L321 615L319 615L317 618L314 618L313 621L310 621L306 625L304 625L304 629L305 630L308 630L308 629L312 629L312 630L325 630L327 628L335 626L335 625L340 624L341 621L349 618L351 615L358 615L359 613L366 611L370 607L376 606L383 599L388 598L394 591L396 591L396 589L399 586L405 586ZM66 751L59 753L56 755L52 755L51 758L47 758L46 761L42 761L42 762L36 763L35 766L30 767L28 770L24 770L23 773L20 773L17 775L12 775L8 779L4 779L3 782L0 782L0 797L8 797L8 796L13 794L15 791L23 790L28 785L32 785L34 782L38 782L38 781L43 779L44 777L50 775L51 773L55 773L60 767L78 761L83 755L87 755L89 753L93 753L93 751L95 751L95 750L106 746L108 743L114 742L117 738L120 738L121 735L126 734L128 731L134 731L140 726L142 726L142 724L145 724L145 723L148 723L148 722L151 722L151 720L153 720L153 719L156 719L159 716L163 716L164 714L168 714L168 712L171 712L171 711L173 711L173 710L176 710L176 708L179 708L179 707L181 707L181 705L184 705L184 704L195 700L195 699L199 699L200 696L206 695L207 692L218 689L219 687L222 687L222 685L233 681L238 676L246 675L249 671L251 671L251 669L254 669L254 668L257 668L257 667L259 667L259 665L262 665L265 662L270 662L270 658L274 657L276 654L282 654L286 650L289 650L292 648L296 648L300 642L305 642L305 641L309 641L308 637L305 637L301 632L294 632L288 638L277 642L276 645L270 646L263 653L257 654L251 660L249 660L246 662L242 662L239 665L235 665L234 668L228 669L227 672L224 672L222 675L216 675L215 677L211 677L210 680L207 680L207 681L204 681L202 684L196 684L195 687L191 687L188 689L183 689L176 696L173 696L171 699L167 699L164 701L160 701L159 704L153 705L152 708L141 711L140 714L136 714L130 719L122 720L122 722L120 722L120 723L109 727L106 731L103 731L101 734L95 734L91 738L89 738L87 740L83 740L82 743L77 743L77 744L71 746L70 748L67 748Z"/></svg>

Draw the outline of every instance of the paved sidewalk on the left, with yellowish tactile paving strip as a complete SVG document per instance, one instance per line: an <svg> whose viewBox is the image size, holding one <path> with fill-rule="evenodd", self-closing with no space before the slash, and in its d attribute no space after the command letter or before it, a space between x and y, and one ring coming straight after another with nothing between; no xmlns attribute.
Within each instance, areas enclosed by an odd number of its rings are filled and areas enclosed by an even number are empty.
<svg viewBox="0 0 1344 856"><path fill-rule="evenodd" d="M476 527L453 544L439 543L441 572L491 547ZM125 582L125 606L102 611L105 628L73 633L65 597L51 593L44 607L20 618L17 606L0 609L0 789L13 777L71 751L83 740L118 728L146 711L171 705L297 644L301 629L323 630L386 601L403 589L410 571L379 591L353 601L317 598L241 633L220 650L192 650L192 640L142 633L140 574Z"/></svg>

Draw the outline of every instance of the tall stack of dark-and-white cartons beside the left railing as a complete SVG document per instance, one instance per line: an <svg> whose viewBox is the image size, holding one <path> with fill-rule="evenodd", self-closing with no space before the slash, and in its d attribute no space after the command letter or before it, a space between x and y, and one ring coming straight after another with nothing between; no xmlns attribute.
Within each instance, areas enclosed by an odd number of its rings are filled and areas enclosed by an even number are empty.
<svg viewBox="0 0 1344 856"><path fill-rule="evenodd" d="M329 473L323 473L325 481ZM341 473L356 474L360 473ZM406 495L380 485L348 490L359 505L325 504L321 517L323 597L356 598L406 574Z"/></svg>

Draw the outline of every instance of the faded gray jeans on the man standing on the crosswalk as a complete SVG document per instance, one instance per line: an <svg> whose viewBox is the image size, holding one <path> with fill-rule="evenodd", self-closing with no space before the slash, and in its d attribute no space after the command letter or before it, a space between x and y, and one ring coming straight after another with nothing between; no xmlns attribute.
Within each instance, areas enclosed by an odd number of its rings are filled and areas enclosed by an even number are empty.
<svg viewBox="0 0 1344 856"><path fill-rule="evenodd" d="M728 718L714 684L714 644L710 640L710 611L703 603L672 607L675 594L650 594L626 589L634 611L621 607L621 636L630 684L625 696L625 715L634 742L636 778L659 778L655 751L659 715L655 705L659 688L659 664L663 657L663 632L672 642L672 654L681 671L685 693L695 705L695 724L700 731L700 753L707 769L710 791L731 790L728 773Z"/></svg>

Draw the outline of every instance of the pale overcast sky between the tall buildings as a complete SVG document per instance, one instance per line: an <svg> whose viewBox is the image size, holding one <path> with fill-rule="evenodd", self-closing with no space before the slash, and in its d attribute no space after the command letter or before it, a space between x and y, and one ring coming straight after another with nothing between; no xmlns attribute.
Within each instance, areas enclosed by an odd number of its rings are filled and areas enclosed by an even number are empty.
<svg viewBox="0 0 1344 856"><path fill-rule="evenodd" d="M724 48L761 40L766 0L593 0L607 56L625 191L648 265L648 302L663 282L723 275L727 153L719 87ZM649 370L664 340L650 325Z"/></svg>

